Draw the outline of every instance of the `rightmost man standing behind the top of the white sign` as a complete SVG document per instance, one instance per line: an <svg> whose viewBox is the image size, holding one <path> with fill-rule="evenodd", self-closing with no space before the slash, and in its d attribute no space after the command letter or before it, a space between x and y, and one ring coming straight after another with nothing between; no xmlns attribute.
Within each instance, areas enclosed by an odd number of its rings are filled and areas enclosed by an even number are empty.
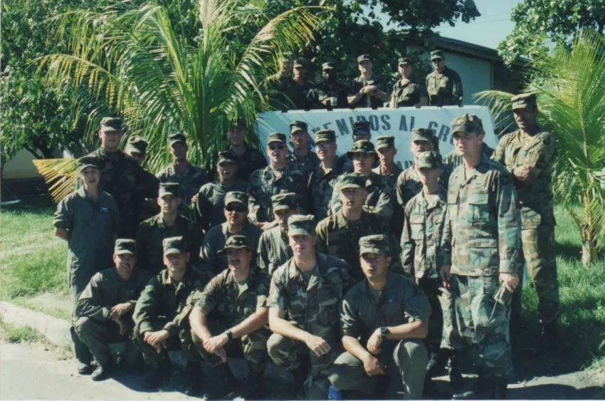
<svg viewBox="0 0 605 401"><path fill-rule="evenodd" d="M446 66L443 51L431 51L431 63L435 71L426 75L428 105L450 106L462 105L462 80L456 71Z"/></svg>

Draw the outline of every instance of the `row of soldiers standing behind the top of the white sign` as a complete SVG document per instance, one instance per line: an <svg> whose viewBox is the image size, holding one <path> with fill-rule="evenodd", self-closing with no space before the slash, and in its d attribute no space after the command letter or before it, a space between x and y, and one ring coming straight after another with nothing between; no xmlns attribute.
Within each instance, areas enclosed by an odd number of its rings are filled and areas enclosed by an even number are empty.
<svg viewBox="0 0 605 401"><path fill-rule="evenodd" d="M308 61L282 60L280 71L267 79L270 104L277 110L462 105L460 75L446 66L443 51L432 51L430 56L434 71L424 80L414 75L411 58L399 58L397 71L401 79L394 85L374 73L368 54L357 57L360 74L350 83L337 80L336 63L322 63L323 82L315 84L308 77Z"/></svg>

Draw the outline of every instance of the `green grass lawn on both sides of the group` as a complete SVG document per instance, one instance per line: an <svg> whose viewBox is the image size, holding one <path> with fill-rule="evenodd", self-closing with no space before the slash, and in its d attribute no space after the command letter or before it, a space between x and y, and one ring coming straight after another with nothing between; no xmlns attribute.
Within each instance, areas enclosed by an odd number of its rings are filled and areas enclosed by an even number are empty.
<svg viewBox="0 0 605 401"><path fill-rule="evenodd" d="M44 292L67 294L67 244L53 236L54 207L17 204L0 214L0 297L20 303ZM557 217L557 268L562 303L561 335L566 348L557 355L574 368L605 368L605 258L591 269L580 262L580 236L561 207ZM537 296L523 293L524 317L537 336Z"/></svg>

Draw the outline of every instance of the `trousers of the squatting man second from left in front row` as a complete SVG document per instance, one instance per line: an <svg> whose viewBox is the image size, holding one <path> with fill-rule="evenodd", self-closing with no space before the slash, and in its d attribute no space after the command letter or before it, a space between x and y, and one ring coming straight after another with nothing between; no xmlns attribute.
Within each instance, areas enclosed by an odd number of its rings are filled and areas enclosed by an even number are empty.
<svg viewBox="0 0 605 401"><path fill-rule="evenodd" d="M168 323L166 319L159 318L157 321L152 323L152 330L162 330ZM151 345L145 343L144 333L141 333L140 325L135 326L135 340L139 346L139 350L143 354L143 359L147 365L167 366L170 363L168 357L168 351L182 350L185 358L191 361L200 360L199 353L197 352L193 342L191 341L191 334L189 328L181 328L178 335L171 335L166 340L167 349L162 349L161 353L157 353L157 350Z"/></svg>

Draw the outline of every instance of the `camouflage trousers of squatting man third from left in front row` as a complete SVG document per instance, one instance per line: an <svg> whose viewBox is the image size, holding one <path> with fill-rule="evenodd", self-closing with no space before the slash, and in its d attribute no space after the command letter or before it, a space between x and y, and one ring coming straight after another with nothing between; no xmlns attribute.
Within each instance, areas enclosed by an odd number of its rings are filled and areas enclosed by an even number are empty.
<svg viewBox="0 0 605 401"><path fill-rule="evenodd" d="M208 329L212 335L219 335L226 330L221 323L216 322L209 322ZM241 338L237 338L225 345L227 356L238 353L241 350L243 351L243 358L246 360L248 369L253 373L263 373L269 360L267 340L270 335L271 332L267 328L261 328L254 333L243 335ZM199 355L201 355L201 358L206 363L209 363L211 366L218 366L223 363L219 355L210 354L204 349L203 341L193 331L191 331L191 340L193 340Z"/></svg>

